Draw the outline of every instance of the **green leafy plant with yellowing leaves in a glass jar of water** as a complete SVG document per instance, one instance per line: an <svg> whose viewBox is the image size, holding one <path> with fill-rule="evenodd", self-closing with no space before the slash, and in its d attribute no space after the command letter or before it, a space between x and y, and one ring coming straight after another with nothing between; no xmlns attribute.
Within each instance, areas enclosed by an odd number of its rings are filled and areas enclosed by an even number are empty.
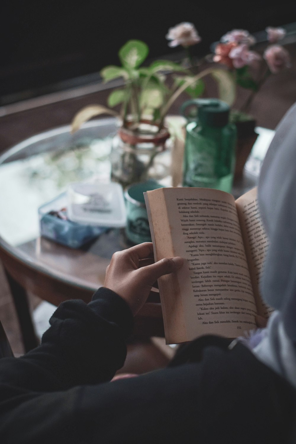
<svg viewBox="0 0 296 444"><path fill-rule="evenodd" d="M111 91L107 104L91 105L79 111L72 121L72 132L94 116L111 114L118 117L119 127L111 150L111 179L128 186L149 177L154 159L166 149L170 132L165 118L170 106L182 92L198 97L204 91L202 78L213 75L221 95L232 96L233 78L217 67L193 75L181 64L156 60L143 66L148 46L140 40L130 40L118 52L121 66L104 67L100 74L104 82L121 77L121 88ZM119 113L112 110L121 105Z"/></svg>

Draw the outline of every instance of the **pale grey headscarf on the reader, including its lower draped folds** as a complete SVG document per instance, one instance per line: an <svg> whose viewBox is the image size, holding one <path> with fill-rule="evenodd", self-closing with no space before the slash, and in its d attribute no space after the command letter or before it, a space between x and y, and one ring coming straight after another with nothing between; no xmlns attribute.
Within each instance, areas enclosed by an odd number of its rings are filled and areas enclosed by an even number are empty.
<svg viewBox="0 0 296 444"><path fill-rule="evenodd" d="M276 311L253 353L296 387L296 104L268 148L258 202L270 242L261 294Z"/></svg>

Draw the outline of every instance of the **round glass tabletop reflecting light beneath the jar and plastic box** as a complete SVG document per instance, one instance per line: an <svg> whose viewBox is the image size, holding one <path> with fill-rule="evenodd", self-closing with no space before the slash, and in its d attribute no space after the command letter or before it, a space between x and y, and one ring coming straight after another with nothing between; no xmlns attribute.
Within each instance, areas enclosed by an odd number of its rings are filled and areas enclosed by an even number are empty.
<svg viewBox="0 0 296 444"><path fill-rule="evenodd" d="M74 250L40 237L38 208L66 191L72 182L110 182L109 154L117 124L114 118L92 120L74 135L70 126L55 128L0 156L2 248L72 285L92 291L103 285L112 254L129 246L124 230L108 230ZM164 184L170 186L170 153L160 162Z"/></svg>

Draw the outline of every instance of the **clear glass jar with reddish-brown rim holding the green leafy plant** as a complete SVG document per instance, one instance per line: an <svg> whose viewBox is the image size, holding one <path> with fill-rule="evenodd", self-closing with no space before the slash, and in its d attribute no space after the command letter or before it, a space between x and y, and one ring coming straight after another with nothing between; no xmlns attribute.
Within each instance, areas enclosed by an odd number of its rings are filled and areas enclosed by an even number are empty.
<svg viewBox="0 0 296 444"><path fill-rule="evenodd" d="M111 149L111 180L124 188L150 178L154 159L166 150L166 140L170 137L165 127L149 120L127 124L127 128L119 128Z"/></svg>

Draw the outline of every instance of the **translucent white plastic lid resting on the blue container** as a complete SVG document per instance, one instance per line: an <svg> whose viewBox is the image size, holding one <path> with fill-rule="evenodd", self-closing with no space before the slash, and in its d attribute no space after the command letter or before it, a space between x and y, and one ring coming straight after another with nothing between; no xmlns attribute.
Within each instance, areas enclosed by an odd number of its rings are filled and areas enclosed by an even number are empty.
<svg viewBox="0 0 296 444"><path fill-rule="evenodd" d="M74 222L115 228L126 225L123 190L118 183L72 183L67 196L67 216Z"/></svg>

